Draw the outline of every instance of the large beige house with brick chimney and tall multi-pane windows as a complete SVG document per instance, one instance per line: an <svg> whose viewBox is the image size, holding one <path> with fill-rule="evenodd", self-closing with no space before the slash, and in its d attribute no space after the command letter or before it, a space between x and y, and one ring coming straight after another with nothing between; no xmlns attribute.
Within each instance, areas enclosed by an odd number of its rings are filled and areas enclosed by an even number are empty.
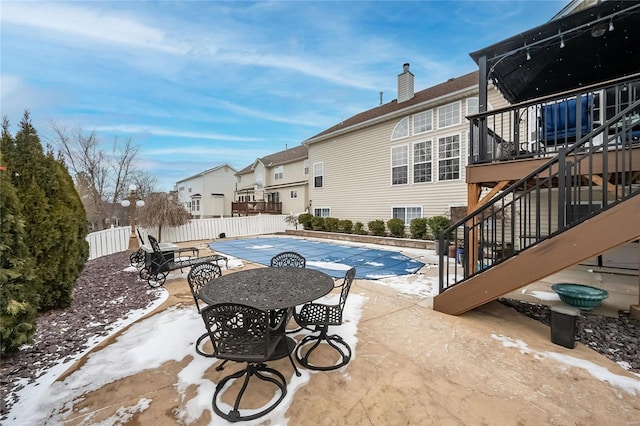
<svg viewBox="0 0 640 426"><path fill-rule="evenodd" d="M493 107L505 104L495 90ZM404 64L398 99L357 114L304 143L310 212L360 221L449 215L466 206L469 122L478 112L478 73L414 93Z"/></svg>

